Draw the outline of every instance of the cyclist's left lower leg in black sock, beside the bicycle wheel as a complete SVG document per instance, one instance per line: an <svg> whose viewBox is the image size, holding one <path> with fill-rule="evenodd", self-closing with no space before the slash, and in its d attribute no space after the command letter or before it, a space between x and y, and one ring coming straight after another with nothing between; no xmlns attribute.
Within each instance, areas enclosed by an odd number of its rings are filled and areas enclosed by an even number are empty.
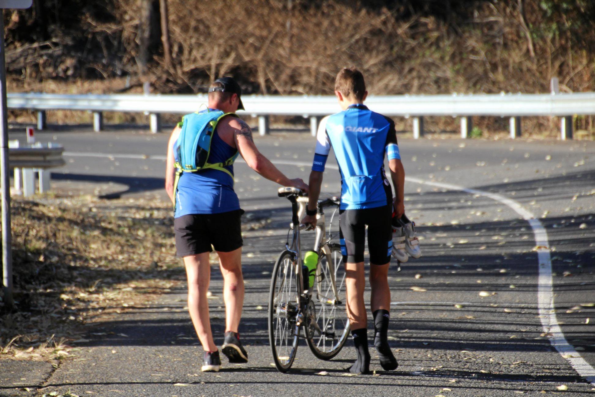
<svg viewBox="0 0 595 397"><path fill-rule="evenodd" d="M355 345L355 351L358 354L358 359L349 368L351 373L369 372L368 316L364 304L365 283L364 262L346 263L347 318L349 318L351 324L353 345Z"/></svg>

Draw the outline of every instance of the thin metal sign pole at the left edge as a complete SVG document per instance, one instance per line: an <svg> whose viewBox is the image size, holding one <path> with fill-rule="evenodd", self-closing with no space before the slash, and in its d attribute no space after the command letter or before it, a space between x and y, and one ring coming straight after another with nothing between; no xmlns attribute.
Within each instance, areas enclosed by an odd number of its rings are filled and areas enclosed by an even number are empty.
<svg viewBox="0 0 595 397"><path fill-rule="evenodd" d="M4 17L0 10L0 188L2 189L2 285L4 302L14 306L12 299L12 252L10 222L10 176L8 175L8 121L6 108L6 64L4 48Z"/></svg>

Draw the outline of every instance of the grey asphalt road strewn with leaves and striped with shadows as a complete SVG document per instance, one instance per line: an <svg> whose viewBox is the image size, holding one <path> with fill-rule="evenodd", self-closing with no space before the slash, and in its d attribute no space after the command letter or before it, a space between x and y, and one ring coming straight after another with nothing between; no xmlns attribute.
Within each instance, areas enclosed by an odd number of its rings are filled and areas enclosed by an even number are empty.
<svg viewBox="0 0 595 397"><path fill-rule="evenodd" d="M167 134L43 132L37 139L65 147L67 165L52 172L52 189L107 200L167 200ZM284 173L307 180L311 137L275 133L255 140ZM236 191L245 217L270 220L244 234L240 333L249 363L224 361L220 373L201 373L202 349L184 310L185 291L172 290L151 307L98 324L76 359L57 370L32 368L29 379L18 382L37 379L45 392L98 396L592 394L595 142L400 139L399 146L408 177L406 212L417 223L422 257L389 272L396 371L382 371L372 349L378 376L345 376L355 360L351 342L331 361L317 360L302 343L289 374L271 366L268 286L284 246L289 202L277 198L274 183L238 162ZM323 190L336 194L334 164L328 161ZM303 244L309 243L305 237ZM214 268L217 343L224 330L221 285ZM8 386L17 375L0 380L0 394L14 392Z"/></svg>

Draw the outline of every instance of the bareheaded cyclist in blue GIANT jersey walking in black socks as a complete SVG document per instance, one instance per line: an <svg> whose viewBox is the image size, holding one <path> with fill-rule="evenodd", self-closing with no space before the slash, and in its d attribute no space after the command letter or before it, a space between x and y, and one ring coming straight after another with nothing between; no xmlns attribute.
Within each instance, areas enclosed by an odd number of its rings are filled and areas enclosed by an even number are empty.
<svg viewBox="0 0 595 397"><path fill-rule="evenodd" d="M346 270L347 317L358 357L349 370L352 373L369 372L364 305L366 227L374 346L384 370L394 370L398 364L387 340L390 312L387 274L393 246L392 212L394 209L397 218L405 212L405 171L400 161L394 122L364 105L368 92L362 73L355 68L341 70L335 80L335 95L343 111L323 118L318 127L309 180L308 208L302 223L316 224L316 203L320 195L322 173L332 147L341 174L339 238ZM394 199L384 173L385 153L389 160Z"/></svg>

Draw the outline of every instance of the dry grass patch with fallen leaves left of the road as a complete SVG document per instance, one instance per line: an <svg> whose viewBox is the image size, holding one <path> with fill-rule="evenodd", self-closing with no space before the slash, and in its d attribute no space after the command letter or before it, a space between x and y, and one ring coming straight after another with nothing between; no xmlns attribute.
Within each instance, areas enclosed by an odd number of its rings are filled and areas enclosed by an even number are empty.
<svg viewBox="0 0 595 397"><path fill-rule="evenodd" d="M68 357L85 324L180 285L172 224L167 204L13 201L17 304L0 304L0 360Z"/></svg>

